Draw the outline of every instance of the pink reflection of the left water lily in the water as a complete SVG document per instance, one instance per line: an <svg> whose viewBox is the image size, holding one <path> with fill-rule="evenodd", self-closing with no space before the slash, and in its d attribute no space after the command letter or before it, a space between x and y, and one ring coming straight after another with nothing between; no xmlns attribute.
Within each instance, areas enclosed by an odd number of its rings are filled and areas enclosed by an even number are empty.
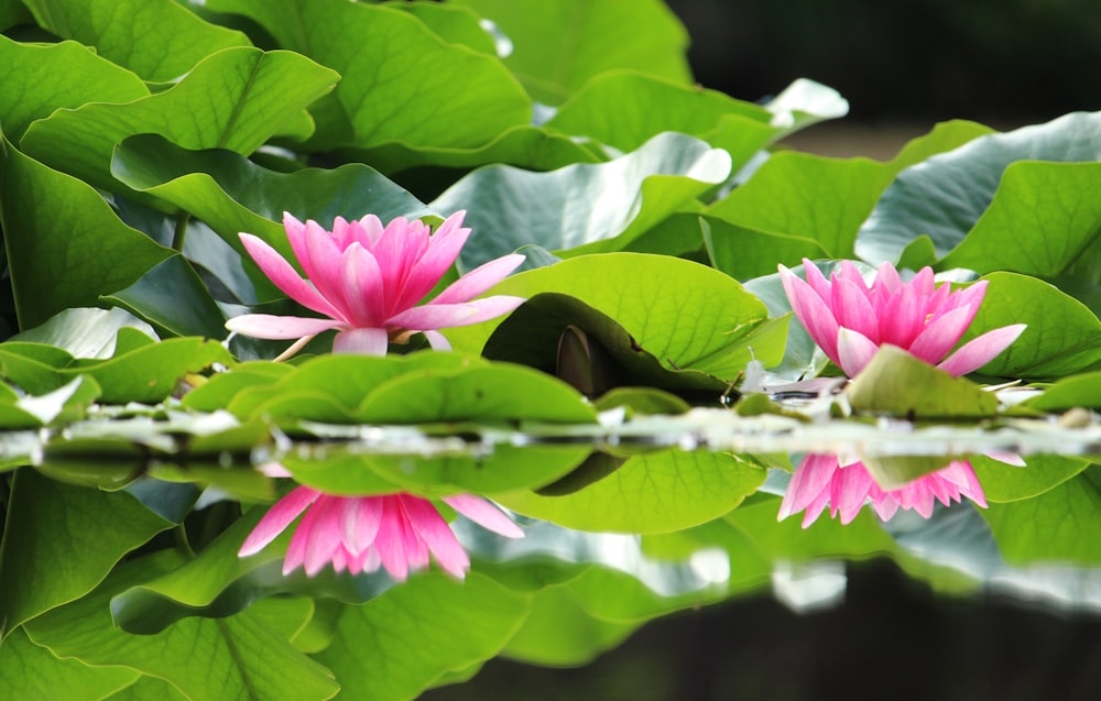
<svg viewBox="0 0 1101 701"><path fill-rule="evenodd" d="M451 508L475 523L510 538L524 534L488 501L469 494L445 496ZM449 574L462 579L470 568L466 550L447 522L426 499L411 494L331 496L298 486L272 506L246 538L238 555L255 555L302 512L283 561L283 573L304 565L313 577L333 568L352 574L385 568L396 580L428 566L428 554Z"/></svg>

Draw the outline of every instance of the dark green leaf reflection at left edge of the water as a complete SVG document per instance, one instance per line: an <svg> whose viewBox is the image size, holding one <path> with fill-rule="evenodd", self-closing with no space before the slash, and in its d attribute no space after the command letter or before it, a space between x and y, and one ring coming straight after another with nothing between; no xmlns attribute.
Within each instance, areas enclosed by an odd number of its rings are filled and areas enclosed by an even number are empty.
<svg viewBox="0 0 1101 701"><path fill-rule="evenodd" d="M15 474L0 546L0 622L20 624L91 591L123 555L172 524L130 494Z"/></svg>

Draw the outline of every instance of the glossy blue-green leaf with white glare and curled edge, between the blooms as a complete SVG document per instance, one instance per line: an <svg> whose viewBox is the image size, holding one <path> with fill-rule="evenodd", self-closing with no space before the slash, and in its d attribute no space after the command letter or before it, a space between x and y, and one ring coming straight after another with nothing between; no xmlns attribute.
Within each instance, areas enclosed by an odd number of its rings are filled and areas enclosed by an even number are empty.
<svg viewBox="0 0 1101 701"><path fill-rule="evenodd" d="M571 249L574 254L621 249L671 213L690 207L729 173L727 152L666 133L609 163L550 173L481 168L448 188L432 207L445 215L468 210L465 223L473 232L459 260L462 269L471 270L532 243ZM623 196L610 198L610 191ZM585 244L590 245L580 249Z"/></svg>

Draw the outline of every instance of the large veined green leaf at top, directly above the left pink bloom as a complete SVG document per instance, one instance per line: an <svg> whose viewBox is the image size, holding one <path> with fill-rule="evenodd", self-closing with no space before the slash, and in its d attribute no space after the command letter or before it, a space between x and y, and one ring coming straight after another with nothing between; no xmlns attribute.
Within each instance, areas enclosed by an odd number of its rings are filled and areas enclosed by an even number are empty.
<svg viewBox="0 0 1101 701"><path fill-rule="evenodd" d="M333 96L312 108L313 149L469 149L531 121L526 96L495 56L446 43L407 12L344 0L208 0L206 7L244 14L283 48L340 73Z"/></svg>

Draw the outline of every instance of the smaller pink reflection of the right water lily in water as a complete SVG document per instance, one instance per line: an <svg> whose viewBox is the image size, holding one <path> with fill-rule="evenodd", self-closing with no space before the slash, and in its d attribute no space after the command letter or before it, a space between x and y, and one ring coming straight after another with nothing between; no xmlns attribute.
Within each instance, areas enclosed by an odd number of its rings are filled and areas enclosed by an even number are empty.
<svg viewBox="0 0 1101 701"><path fill-rule="evenodd" d="M1003 456L999 458L1012 460ZM830 516L836 518L840 514L841 523L847 524L857 517L868 502L871 502L872 508L883 521L890 521L900 508L916 511L928 518L933 515L934 502L939 501L948 506L952 502L960 502L961 496L986 507L982 485L967 460L953 460L948 467L904 486L883 490L860 461L841 464L837 456L810 454L796 468L787 491L784 492L777 518L783 521L806 510L803 516L803 527L806 528L828 505Z"/></svg>

